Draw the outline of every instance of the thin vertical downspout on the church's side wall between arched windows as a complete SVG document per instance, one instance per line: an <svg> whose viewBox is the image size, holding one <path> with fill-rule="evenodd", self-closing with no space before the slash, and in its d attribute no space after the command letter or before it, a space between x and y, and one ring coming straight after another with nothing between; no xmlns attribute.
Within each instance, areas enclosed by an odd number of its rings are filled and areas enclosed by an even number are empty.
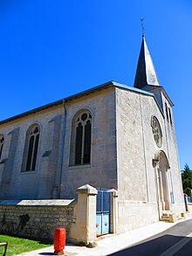
<svg viewBox="0 0 192 256"><path fill-rule="evenodd" d="M61 178L62 178L62 170L63 170L63 160L64 160L64 142L65 142L65 121L66 121L66 109L65 109L65 100L63 100L64 107L64 118L62 125L62 137L61 137L61 160L60 160L60 171L59 171L59 180L58 180L58 199L61 197Z"/></svg>

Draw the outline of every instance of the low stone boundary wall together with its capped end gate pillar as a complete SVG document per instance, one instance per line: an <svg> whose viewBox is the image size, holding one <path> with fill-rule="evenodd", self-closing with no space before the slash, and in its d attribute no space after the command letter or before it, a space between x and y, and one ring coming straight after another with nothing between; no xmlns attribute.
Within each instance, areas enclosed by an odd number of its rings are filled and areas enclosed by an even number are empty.
<svg viewBox="0 0 192 256"><path fill-rule="evenodd" d="M77 193L72 200L0 201L0 233L52 242L62 226L68 241L88 245L96 239L97 190L86 184Z"/></svg>

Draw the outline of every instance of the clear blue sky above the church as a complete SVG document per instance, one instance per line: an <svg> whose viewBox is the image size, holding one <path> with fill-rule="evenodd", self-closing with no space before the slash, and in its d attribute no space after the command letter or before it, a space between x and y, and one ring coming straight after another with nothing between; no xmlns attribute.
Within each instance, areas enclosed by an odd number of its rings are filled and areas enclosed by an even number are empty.
<svg viewBox="0 0 192 256"><path fill-rule="evenodd" d="M191 0L1 0L0 120L109 80L133 86L141 17L192 168Z"/></svg>

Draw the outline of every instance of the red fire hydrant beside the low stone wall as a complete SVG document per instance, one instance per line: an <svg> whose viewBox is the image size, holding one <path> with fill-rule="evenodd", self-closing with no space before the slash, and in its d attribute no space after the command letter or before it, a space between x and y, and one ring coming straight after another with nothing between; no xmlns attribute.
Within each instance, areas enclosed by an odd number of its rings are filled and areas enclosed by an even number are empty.
<svg viewBox="0 0 192 256"><path fill-rule="evenodd" d="M54 233L54 254L63 255L65 249L66 232L64 227L58 227Z"/></svg>

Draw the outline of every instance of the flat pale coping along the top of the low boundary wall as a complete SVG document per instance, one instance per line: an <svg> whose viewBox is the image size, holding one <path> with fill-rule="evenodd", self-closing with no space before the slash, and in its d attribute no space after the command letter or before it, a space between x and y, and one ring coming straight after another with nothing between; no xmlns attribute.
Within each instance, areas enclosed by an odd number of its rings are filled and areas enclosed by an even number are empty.
<svg viewBox="0 0 192 256"><path fill-rule="evenodd" d="M51 200L0 200L0 205L20 206L70 206L76 199L51 199Z"/></svg>

